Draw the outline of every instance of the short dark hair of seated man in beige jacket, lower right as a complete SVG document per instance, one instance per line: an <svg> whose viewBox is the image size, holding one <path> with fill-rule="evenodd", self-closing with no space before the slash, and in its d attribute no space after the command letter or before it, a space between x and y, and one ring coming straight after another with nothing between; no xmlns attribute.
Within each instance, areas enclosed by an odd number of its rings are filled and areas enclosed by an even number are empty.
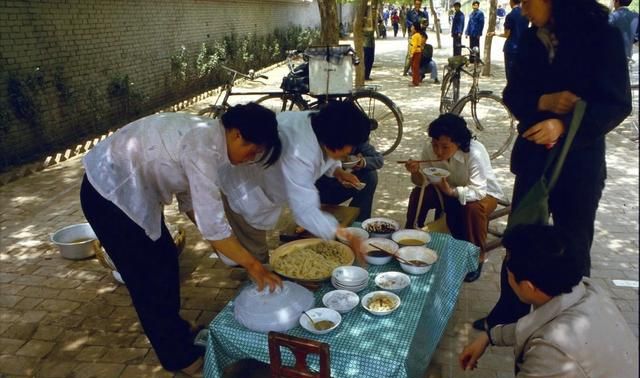
<svg viewBox="0 0 640 378"><path fill-rule="evenodd" d="M550 296L570 293L582 279L577 259L567 253L567 245L553 226L527 224L514 226L505 233L507 269L516 282L531 281Z"/></svg>

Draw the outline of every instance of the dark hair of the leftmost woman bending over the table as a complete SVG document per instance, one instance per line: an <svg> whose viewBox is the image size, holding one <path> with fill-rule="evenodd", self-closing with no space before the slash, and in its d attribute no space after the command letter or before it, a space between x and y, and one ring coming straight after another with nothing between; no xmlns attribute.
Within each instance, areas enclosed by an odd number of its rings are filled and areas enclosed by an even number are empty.
<svg viewBox="0 0 640 378"><path fill-rule="evenodd" d="M226 130L238 129L243 139L263 146L265 152L259 161L265 167L280 157L282 143L278 136L278 121L270 109L254 102L235 105L222 115L222 125Z"/></svg>

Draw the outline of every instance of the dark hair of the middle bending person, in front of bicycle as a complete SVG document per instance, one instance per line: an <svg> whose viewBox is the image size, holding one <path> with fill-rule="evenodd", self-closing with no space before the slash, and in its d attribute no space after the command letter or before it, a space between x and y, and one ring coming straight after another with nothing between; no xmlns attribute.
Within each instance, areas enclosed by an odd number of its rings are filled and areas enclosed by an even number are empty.
<svg viewBox="0 0 640 378"><path fill-rule="evenodd" d="M309 117L318 142L332 150L369 139L371 120L353 102L330 101Z"/></svg>

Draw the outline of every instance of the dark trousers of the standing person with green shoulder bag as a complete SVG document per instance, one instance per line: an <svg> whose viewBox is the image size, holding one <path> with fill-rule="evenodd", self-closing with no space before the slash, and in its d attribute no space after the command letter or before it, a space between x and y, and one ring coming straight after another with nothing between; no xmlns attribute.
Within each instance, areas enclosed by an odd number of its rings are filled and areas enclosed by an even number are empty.
<svg viewBox="0 0 640 378"><path fill-rule="evenodd" d="M570 171L571 167L563 168L563 174L560 175L556 187L551 192L549 208L554 227L560 231L567 243L567 253L574 255L577 263L582 267L583 275L588 277L591 271L590 251L594 223L604 189L605 171L603 167L599 175L582 179L584 182L576 181L575 176L568 177L570 175L564 173ZM516 175L513 208L518 206L536 181L536 177ZM529 310L530 305L522 303L509 286L507 268L503 261L500 271L500 299L487 316L487 324L493 327L496 324L513 323L527 315Z"/></svg>

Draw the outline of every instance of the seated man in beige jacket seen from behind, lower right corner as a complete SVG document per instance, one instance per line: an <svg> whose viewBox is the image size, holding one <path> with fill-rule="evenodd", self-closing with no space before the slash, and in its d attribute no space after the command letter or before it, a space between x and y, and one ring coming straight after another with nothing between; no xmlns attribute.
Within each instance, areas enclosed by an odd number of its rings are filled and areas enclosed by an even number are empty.
<svg viewBox="0 0 640 378"><path fill-rule="evenodd" d="M638 340L615 303L565 253L552 226L505 234L509 286L533 310L482 332L459 356L474 369L487 346L513 346L516 377L637 377Z"/></svg>

